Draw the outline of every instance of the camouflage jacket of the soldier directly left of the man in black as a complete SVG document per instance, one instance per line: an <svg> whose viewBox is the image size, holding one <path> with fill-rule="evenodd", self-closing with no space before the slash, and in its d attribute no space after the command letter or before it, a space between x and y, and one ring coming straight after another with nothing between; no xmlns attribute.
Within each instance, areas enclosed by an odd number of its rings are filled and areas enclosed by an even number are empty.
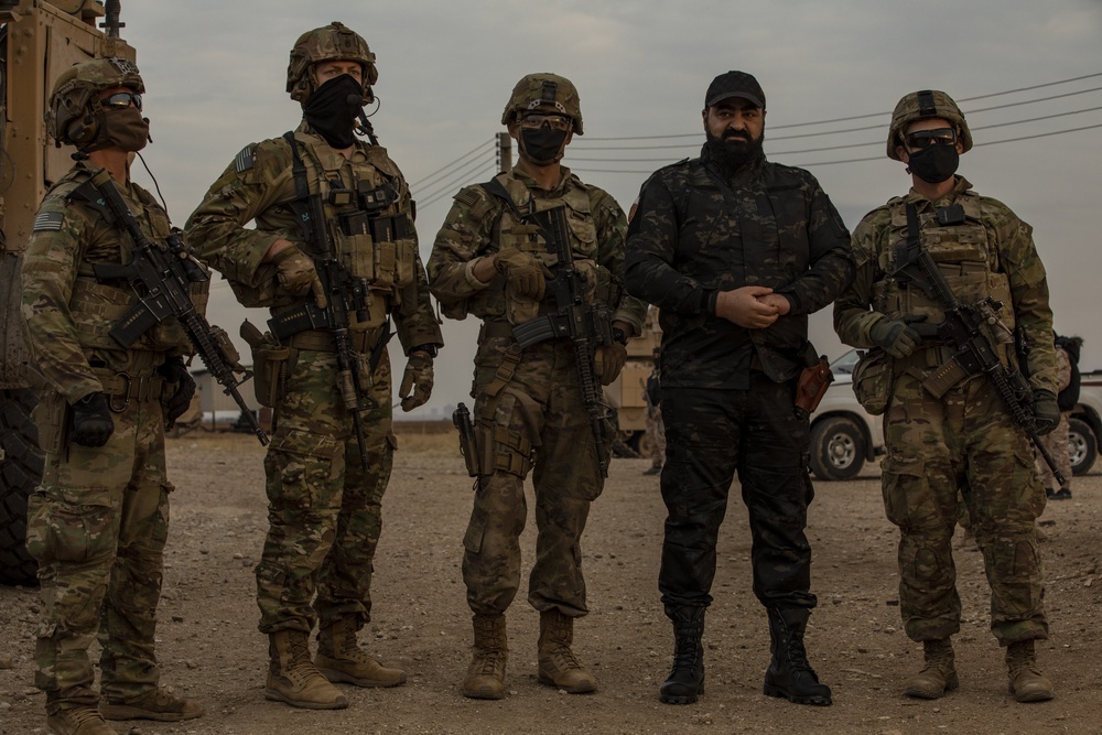
<svg viewBox="0 0 1102 735"><path fill-rule="evenodd" d="M604 190L583 184L569 169L562 172L561 183L551 191L543 190L519 164L497 179L521 212L566 207L575 266L592 275L587 278L593 287L586 294L588 302L609 307L613 321L630 324L639 334L647 306L623 290L627 229L624 212ZM500 274L483 283L472 273L479 258L507 247L530 252L549 268L554 267L554 256L543 238L517 219L500 197L480 184L466 186L455 195L429 258L432 293L445 315L464 318L469 313L483 320L520 324L547 307L516 299Z"/></svg>

